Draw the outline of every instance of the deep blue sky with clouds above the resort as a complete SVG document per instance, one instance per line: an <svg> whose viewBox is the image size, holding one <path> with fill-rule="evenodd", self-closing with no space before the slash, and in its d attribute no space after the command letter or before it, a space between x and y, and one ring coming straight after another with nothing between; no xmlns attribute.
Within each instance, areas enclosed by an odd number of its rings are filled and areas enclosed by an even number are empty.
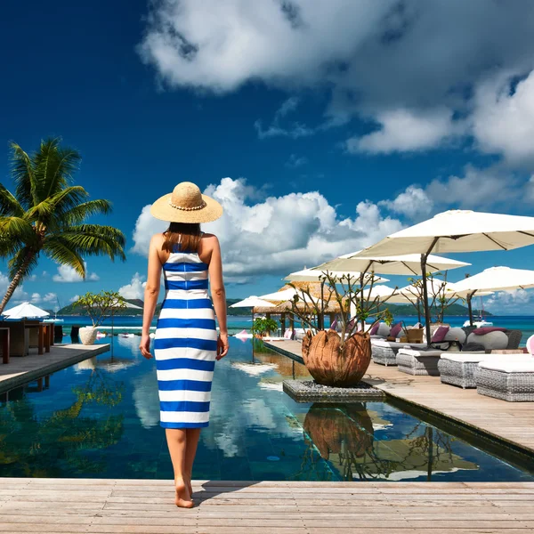
<svg viewBox="0 0 534 534"><path fill-rule="evenodd" d="M8 142L61 136L108 198L125 263L85 281L42 257L13 297L52 308L100 289L142 297L150 203L182 181L224 207L206 224L227 296L367 247L447 209L532 214L530 0L114 0L3 5L0 181ZM529 268L534 247L452 255ZM407 280L391 278L390 285ZM0 294L7 287L0 262ZM534 313L534 291L486 299Z"/></svg>

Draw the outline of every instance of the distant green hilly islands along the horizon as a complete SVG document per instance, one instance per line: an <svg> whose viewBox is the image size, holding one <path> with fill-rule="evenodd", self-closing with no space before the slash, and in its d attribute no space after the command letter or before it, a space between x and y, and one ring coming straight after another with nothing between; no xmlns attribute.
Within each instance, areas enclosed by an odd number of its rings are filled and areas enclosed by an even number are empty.
<svg viewBox="0 0 534 534"><path fill-rule="evenodd" d="M118 316L142 316L142 300L138 298L127 298L125 299L126 302L134 304L135 306L139 306L141 309L137 310L135 308L124 308L122 310L117 310L115 313L116 317ZM251 310L250 308L230 308L231 304L238 303L241 299L239 298L228 298L226 299L226 303L228 305L227 312L228 315L231 316L239 316L239 317L250 317ZM385 305L384 305L385 307ZM409 315L409 316L416 316L417 312L414 306L411 304L389 304L387 306L393 315ZM158 303L158 306L156 307L156 315L158 315L159 310L161 310L161 303ZM422 311L421 311L422 312ZM431 315L436 315L436 309L431 309ZM53 315L53 312L51 312ZM473 310L473 316L480 315L481 312L479 310ZM85 310L76 307L74 304L69 304L68 306L65 306L61 308L61 310L58 312L58 315L81 315L85 316L87 313ZM469 312L467 311L467 307L463 306L462 304L454 303L449 306L447 311L445 312L446 316L467 316L469 315ZM491 317L492 313L484 311L484 315Z"/></svg>

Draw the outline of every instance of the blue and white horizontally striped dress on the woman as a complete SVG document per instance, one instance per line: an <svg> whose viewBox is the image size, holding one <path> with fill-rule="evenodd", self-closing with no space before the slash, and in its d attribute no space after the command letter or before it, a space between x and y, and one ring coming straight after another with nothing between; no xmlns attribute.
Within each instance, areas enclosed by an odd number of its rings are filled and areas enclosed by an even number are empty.
<svg viewBox="0 0 534 534"><path fill-rule="evenodd" d="M197 253L174 252L163 272L166 297L154 339L161 426L200 428L209 424L217 352L207 264Z"/></svg>

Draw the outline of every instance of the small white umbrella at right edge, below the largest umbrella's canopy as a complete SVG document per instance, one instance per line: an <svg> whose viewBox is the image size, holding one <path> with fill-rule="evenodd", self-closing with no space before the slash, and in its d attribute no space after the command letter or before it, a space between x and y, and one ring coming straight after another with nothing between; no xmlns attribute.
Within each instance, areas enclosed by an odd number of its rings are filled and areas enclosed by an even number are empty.
<svg viewBox="0 0 534 534"><path fill-rule="evenodd" d="M530 287L534 287L534 271L510 267L490 267L455 284L456 291L465 295L471 324L473 295L489 295L492 291L512 291Z"/></svg>

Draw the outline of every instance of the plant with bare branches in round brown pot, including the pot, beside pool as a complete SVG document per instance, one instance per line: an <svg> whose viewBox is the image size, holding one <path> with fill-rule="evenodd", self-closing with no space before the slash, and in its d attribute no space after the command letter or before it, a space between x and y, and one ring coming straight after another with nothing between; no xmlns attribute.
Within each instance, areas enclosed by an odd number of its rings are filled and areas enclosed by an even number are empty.
<svg viewBox="0 0 534 534"><path fill-rule="evenodd" d="M336 278L325 272L321 280L328 289L323 292L325 299L314 298L303 288L303 298L295 295L292 312L308 328L303 338L303 360L316 383L352 387L365 375L371 361L369 330L381 320L392 321L391 312L383 305L387 299L370 296L375 279L374 275ZM331 299L340 310L339 334L317 328L311 319L321 316Z"/></svg>

